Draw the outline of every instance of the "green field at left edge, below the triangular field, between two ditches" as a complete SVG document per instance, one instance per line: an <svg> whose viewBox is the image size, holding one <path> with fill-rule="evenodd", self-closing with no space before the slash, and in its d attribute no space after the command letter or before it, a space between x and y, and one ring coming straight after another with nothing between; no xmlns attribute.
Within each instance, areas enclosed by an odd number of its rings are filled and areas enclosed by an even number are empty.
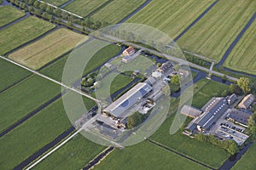
<svg viewBox="0 0 256 170"><path fill-rule="evenodd" d="M32 76L0 94L0 132L61 93L54 82Z"/></svg>

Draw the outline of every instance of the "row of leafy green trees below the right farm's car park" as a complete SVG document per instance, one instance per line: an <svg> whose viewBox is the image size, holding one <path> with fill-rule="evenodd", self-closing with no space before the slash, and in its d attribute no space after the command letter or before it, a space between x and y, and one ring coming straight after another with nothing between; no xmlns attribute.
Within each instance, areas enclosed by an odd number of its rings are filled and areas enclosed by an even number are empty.
<svg viewBox="0 0 256 170"><path fill-rule="evenodd" d="M238 145L234 140L219 140L216 139L212 134L204 135L203 133L195 134L195 139L203 143L218 145L224 150L227 150L232 155L236 154L236 152L239 151Z"/></svg>

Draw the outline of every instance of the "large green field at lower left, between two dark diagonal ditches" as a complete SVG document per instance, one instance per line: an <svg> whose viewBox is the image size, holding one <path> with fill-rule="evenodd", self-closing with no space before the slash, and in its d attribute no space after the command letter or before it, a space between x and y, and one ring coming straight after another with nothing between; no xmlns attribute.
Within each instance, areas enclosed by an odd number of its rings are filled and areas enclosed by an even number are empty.
<svg viewBox="0 0 256 170"><path fill-rule="evenodd" d="M69 127L62 100L58 99L0 139L1 169L13 169Z"/></svg>

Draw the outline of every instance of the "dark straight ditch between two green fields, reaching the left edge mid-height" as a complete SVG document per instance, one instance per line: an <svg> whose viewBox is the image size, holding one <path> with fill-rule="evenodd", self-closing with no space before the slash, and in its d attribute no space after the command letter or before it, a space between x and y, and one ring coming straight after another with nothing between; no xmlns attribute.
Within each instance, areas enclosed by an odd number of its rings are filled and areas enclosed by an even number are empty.
<svg viewBox="0 0 256 170"><path fill-rule="evenodd" d="M19 122L15 122L15 124L11 125L10 127L8 127L7 129L5 129L2 133L0 133L0 139L7 133L9 133L10 131L12 131L13 129L15 129L15 127L20 126L20 124L22 124L23 122L26 122L29 118L31 118L32 116L36 115L39 111L42 111L45 107L47 107L48 105L52 104L53 102L55 102L55 100L61 98L62 94L58 94L56 95L53 99L49 99L49 101L47 101L46 103L44 103L43 105L40 105L36 110L32 111L31 113L29 113L28 115L24 116L23 118L20 119Z"/></svg>

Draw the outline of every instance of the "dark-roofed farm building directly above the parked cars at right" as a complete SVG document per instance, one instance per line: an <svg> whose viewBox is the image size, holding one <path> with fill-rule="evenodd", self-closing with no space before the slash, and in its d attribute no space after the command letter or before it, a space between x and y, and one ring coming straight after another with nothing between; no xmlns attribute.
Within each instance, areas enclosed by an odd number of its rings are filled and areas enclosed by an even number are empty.
<svg viewBox="0 0 256 170"><path fill-rule="evenodd" d="M245 111L232 109L226 118L231 122L236 122L247 127L247 122L250 116L251 115Z"/></svg>

